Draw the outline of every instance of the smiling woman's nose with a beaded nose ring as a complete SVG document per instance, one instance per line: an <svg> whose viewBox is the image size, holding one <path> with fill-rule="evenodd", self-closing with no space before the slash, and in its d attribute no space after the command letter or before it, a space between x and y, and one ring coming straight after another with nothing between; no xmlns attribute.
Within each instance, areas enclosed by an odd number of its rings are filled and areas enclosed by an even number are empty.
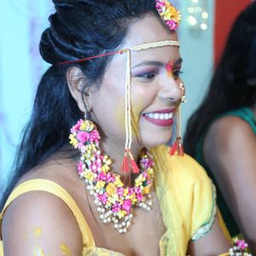
<svg viewBox="0 0 256 256"><path fill-rule="evenodd" d="M161 100L169 100L174 103L181 102L184 94L185 89L181 79L167 77L167 79L161 81L158 94Z"/></svg>

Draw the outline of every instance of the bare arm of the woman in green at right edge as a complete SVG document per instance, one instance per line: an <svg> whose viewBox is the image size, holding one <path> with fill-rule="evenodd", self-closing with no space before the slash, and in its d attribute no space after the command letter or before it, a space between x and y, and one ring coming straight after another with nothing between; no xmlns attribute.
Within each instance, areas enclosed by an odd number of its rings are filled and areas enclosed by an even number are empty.
<svg viewBox="0 0 256 256"><path fill-rule="evenodd" d="M218 119L207 133L203 148L243 236L256 253L256 137L243 120Z"/></svg>

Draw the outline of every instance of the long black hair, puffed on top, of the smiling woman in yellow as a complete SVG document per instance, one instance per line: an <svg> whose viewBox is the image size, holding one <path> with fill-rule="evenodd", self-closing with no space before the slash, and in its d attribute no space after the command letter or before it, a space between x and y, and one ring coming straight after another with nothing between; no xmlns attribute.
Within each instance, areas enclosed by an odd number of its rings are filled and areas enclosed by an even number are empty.
<svg viewBox="0 0 256 256"><path fill-rule="evenodd" d="M49 156L66 152L63 148L67 148L70 127L83 117L67 86L66 73L71 66L55 64L118 49L132 20L148 13L159 16L154 0L53 0L53 3L55 14L49 16L50 26L40 42L40 53L52 66L38 84L32 116L24 129L1 209L20 177L43 164ZM76 65L88 84L99 84L110 59L104 57Z"/></svg>

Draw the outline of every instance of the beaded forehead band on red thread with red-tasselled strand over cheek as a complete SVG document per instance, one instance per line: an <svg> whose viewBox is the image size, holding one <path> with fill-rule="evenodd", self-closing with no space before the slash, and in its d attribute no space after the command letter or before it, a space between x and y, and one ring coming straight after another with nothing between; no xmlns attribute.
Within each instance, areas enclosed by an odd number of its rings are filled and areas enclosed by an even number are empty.
<svg viewBox="0 0 256 256"><path fill-rule="evenodd" d="M73 64L79 63L83 61L89 61L92 59L108 56L108 55L115 55L115 54L126 54L126 74L125 74L125 156L121 166L123 172L134 172L138 173L139 168L137 166L136 161L131 153L131 143L132 143L132 129L131 129L131 52L132 51L140 51L140 50L148 50L148 49L156 49L160 47L179 47L179 42L176 40L165 40L165 41L158 41L146 44L139 44L131 49L120 49L114 52L109 52L102 55L91 56L75 61L64 61L57 63L56 65L63 65L63 64Z"/></svg>

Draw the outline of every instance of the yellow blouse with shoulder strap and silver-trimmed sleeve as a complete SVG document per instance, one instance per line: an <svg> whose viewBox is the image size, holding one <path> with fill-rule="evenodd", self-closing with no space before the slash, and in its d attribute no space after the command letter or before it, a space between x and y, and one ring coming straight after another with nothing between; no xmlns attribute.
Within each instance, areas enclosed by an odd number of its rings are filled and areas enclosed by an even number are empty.
<svg viewBox="0 0 256 256"><path fill-rule="evenodd" d="M166 233L159 243L160 255L185 255L189 241L199 239L212 228L216 216L215 189L204 169L188 155L171 157L165 146L154 148L151 152L155 161L156 195L166 224ZM90 228L71 195L57 183L46 179L32 179L17 186L0 213L0 221L2 222L3 213L15 198L35 190L60 197L73 212L83 237L83 255L124 256L122 253L96 247ZM0 256L3 256L1 239Z"/></svg>

